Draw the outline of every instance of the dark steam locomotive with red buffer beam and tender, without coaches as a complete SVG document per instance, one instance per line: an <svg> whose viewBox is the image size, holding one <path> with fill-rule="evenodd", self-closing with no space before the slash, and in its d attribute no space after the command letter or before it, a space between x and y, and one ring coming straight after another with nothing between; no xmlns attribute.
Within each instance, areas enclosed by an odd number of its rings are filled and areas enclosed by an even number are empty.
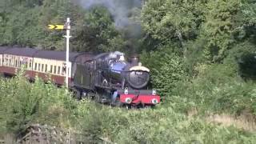
<svg viewBox="0 0 256 144"><path fill-rule="evenodd" d="M120 52L99 54L75 67L78 97L92 96L99 102L126 106L154 106L160 102L156 90L148 89L150 70L142 66L138 56L126 61Z"/></svg>

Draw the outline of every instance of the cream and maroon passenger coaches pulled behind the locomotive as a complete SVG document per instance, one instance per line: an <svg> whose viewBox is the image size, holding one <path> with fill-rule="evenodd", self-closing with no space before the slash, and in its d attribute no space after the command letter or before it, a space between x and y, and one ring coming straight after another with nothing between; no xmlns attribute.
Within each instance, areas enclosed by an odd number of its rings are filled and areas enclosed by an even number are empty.
<svg viewBox="0 0 256 144"><path fill-rule="evenodd" d="M70 53L69 67L75 61L86 61L88 54ZM24 66L26 78L34 79L36 75L51 80L58 85L65 83L66 71L71 84L71 69L66 70L66 52L36 50L31 48L0 47L0 73L12 76Z"/></svg>

